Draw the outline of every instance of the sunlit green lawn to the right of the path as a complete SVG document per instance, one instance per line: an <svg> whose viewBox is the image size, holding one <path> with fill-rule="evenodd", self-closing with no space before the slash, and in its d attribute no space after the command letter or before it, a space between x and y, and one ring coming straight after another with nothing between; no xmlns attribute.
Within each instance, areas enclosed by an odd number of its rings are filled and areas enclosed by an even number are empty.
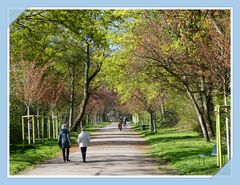
<svg viewBox="0 0 240 185"><path fill-rule="evenodd" d="M175 128L160 129L157 134L136 129L150 144L150 155L159 162L159 168L166 164L180 175L214 175L219 170L216 157L206 157L203 165L198 156L210 154L215 141L207 143L196 132Z"/></svg>

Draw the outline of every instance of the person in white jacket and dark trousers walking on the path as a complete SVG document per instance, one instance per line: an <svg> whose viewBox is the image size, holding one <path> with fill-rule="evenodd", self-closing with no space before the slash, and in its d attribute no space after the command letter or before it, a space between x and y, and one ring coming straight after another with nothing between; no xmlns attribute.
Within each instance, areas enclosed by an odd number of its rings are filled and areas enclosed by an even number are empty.
<svg viewBox="0 0 240 185"><path fill-rule="evenodd" d="M91 140L91 138L90 138L89 134L87 132L85 132L85 128L82 128L81 133L78 135L77 142L78 142L79 148L81 150L83 162L86 162L87 147L88 147L90 140Z"/></svg>

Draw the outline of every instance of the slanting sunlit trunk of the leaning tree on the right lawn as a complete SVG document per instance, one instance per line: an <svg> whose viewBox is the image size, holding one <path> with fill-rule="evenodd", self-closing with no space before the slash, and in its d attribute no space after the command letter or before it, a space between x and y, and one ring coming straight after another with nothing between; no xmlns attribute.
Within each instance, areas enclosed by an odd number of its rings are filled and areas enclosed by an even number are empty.
<svg viewBox="0 0 240 185"><path fill-rule="evenodd" d="M185 88L186 88L186 91L187 91L187 94L188 94L189 98L191 99L191 101L194 105L196 113L198 115L198 120L199 120L199 124L201 126L201 129L202 129L203 137L204 137L205 141L208 142L210 138L209 138L209 135L208 135L208 132L207 132L206 123L205 123L204 118L203 118L203 113L200 111L200 108L197 104L197 101L195 100L194 95L192 94L192 92L190 91L189 87L186 84L185 84Z"/></svg>

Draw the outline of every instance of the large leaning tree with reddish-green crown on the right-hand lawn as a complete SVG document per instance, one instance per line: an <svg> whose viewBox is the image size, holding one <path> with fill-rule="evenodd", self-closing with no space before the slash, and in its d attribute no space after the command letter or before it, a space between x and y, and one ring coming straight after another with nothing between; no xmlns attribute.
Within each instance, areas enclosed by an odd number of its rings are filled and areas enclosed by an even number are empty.
<svg viewBox="0 0 240 185"><path fill-rule="evenodd" d="M135 32L135 55L156 64L159 68L157 73L160 72L158 76L171 76L174 81L168 80L170 84L176 87L171 82L180 83L179 87L185 89L195 107L203 135L208 141L213 135L209 116L214 88L211 78L216 76L211 76L211 64L201 56L203 52L199 52L201 47L198 46L204 44L211 53L211 26L206 14L198 10L146 12L143 14L144 24Z"/></svg>

